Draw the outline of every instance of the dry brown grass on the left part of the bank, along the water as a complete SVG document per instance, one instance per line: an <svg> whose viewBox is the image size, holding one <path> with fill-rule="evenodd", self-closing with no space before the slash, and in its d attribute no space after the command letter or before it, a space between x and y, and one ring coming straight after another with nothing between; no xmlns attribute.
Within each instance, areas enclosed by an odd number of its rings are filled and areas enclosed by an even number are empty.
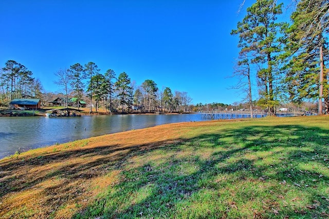
<svg viewBox="0 0 329 219"><path fill-rule="evenodd" d="M118 181L120 166L128 158L135 166L144 163L131 152L172 144L179 141L182 130L210 123L132 130L4 158L0 161L0 217L69 218ZM116 170L108 171L113 166Z"/></svg>

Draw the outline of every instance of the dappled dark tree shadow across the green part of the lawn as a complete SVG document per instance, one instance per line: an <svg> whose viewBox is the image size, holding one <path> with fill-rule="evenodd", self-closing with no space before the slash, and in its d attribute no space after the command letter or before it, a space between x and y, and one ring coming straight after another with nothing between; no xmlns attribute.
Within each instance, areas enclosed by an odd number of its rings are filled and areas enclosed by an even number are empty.
<svg viewBox="0 0 329 219"><path fill-rule="evenodd" d="M214 149L226 148L227 150L214 152L210 158L203 159L202 154L198 154L197 151L202 149L205 144ZM175 155L175 153L186 149L187 145L194 148L195 156L181 157ZM259 211L259 215L254 214L253 216L325 216L328 215L327 206L329 203L323 199L325 193L318 191L317 187L328 182L329 178L323 176L316 169L301 170L299 165L315 162L317 165L326 167L328 165L328 145L328 130L295 125L254 126L218 134L202 134L195 138L180 141L178 144L161 148L161 150L173 154L165 161L164 165L157 166L154 162L149 162L142 167L122 172L122 180L118 185L109 189L107 194L97 198L94 204L74 217L88 218L99 215L103 215L105 218L228 217L227 209L232 206L230 203L222 203L224 204L222 209L219 207L214 211L199 212L200 215L198 212L187 209L189 204L197 201L195 197L192 197L193 194L207 189L217 190L225 187L226 183L234 184L234 181L244 180L258 181L260 185L266 181L276 181L277 184L287 184L292 186L294 190L302 192L305 192L306 187L310 188L307 191L308 197L300 197L307 198L305 202L307 206L302 208L290 206L276 212L275 210L280 206L268 204L269 209L267 211ZM307 149L303 150L306 147ZM148 152L152 150L158 150L158 148L150 148ZM276 163L255 164L253 160L244 157L246 153L253 152L271 152L258 159L265 160L266 156L273 156ZM235 160L227 162L230 157L234 157ZM218 166L218 164L223 163L224 165ZM196 171L190 174L181 174L184 172L181 168L188 165L196 166ZM215 179L222 174L236 174L235 180L222 182L223 185L219 185ZM326 189L328 189L327 183ZM273 191L268 189L267 192L270 194ZM278 192L280 191L274 191L274 194L269 196L277 198L276 195L281 195ZM252 194L246 196L245 201L247 202ZM266 194L258 198L263 200L269 196L267 197ZM262 202L264 203L264 201ZM259 204L262 205L262 202ZM209 206L209 208L211 207ZM276 209L273 210L273 208ZM245 217L246 215L237 213L236 218L241 216ZM248 216L250 217L247 214Z"/></svg>

